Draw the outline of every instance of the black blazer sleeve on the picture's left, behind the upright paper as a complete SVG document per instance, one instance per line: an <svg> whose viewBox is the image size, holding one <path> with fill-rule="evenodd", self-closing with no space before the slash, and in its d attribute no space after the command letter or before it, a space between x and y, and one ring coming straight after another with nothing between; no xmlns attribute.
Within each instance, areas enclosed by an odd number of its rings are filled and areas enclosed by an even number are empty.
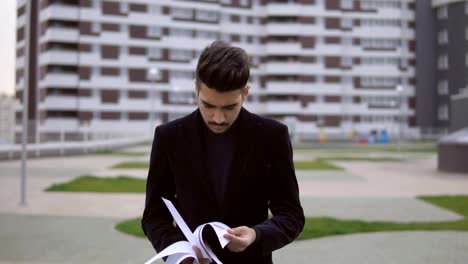
<svg viewBox="0 0 468 264"><path fill-rule="evenodd" d="M175 185L164 145L167 140L161 127L157 127L151 148L145 210L141 221L143 232L157 252L174 242L185 240L180 229L174 227L173 218L161 199L175 200Z"/></svg>

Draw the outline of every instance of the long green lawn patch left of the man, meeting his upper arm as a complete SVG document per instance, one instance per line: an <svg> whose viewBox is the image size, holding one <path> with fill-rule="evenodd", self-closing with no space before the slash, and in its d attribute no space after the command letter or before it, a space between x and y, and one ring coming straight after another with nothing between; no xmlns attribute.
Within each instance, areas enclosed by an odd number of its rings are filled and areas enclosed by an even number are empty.
<svg viewBox="0 0 468 264"><path fill-rule="evenodd" d="M144 193L146 180L127 176L113 178L85 175L66 183L53 184L48 192Z"/></svg>

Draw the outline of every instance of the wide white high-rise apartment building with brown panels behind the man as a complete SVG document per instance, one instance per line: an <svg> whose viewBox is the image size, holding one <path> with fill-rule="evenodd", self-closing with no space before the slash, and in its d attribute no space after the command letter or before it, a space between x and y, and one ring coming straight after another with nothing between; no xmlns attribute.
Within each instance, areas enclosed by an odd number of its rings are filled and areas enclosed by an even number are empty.
<svg viewBox="0 0 468 264"><path fill-rule="evenodd" d="M61 131L75 138L148 133L193 111L197 58L216 39L251 56L246 108L292 120L301 138L319 130L417 134L414 1L31 2L29 118L41 140Z"/></svg>

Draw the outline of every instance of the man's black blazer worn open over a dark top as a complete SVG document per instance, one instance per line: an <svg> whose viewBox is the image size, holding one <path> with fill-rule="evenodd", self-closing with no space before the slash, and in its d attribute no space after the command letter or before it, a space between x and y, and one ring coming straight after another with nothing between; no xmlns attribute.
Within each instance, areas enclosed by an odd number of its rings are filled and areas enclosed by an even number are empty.
<svg viewBox="0 0 468 264"><path fill-rule="evenodd" d="M218 206L203 160L203 120L190 115L156 128L146 185L142 228L156 251L185 240L161 197L173 201L193 230L220 221L230 227L249 226L256 241L244 252L227 247L217 255L223 263L272 263L272 251L292 242L302 231L304 213L285 125L242 108L236 120L238 144ZM268 219L268 209L273 217Z"/></svg>

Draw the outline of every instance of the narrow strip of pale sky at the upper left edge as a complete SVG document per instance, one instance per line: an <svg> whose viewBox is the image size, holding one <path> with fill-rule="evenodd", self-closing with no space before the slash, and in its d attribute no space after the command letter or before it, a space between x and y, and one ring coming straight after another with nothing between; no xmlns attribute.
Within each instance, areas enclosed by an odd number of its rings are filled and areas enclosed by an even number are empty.
<svg viewBox="0 0 468 264"><path fill-rule="evenodd" d="M15 85L16 0L0 0L0 94Z"/></svg>

